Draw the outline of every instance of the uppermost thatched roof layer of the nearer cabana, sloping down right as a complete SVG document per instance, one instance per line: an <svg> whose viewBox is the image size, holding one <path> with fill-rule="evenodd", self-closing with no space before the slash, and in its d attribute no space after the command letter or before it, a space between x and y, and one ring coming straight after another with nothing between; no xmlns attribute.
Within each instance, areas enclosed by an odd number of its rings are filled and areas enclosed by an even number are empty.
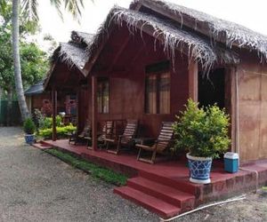
<svg viewBox="0 0 267 222"><path fill-rule="evenodd" d="M223 42L230 48L232 45L247 48L258 52L261 59L267 59L267 36L249 28L162 0L134 0L130 8L134 9L136 4L142 4L155 12L163 10L168 18L180 22L181 26L191 26L190 28Z"/></svg>

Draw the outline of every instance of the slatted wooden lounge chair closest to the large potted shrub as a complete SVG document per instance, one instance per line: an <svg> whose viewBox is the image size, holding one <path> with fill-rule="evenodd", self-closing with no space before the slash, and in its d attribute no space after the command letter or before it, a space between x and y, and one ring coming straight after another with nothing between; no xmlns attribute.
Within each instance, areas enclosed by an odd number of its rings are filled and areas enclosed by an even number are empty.
<svg viewBox="0 0 267 222"><path fill-rule="evenodd" d="M135 147L139 148L137 155L137 160L145 163L155 163L157 154L166 154L169 151L169 148L173 145L174 137L174 122L163 122L161 130L158 135L158 139L155 140L155 143L152 146L145 146L142 144L135 144ZM148 151L152 155L150 159L142 157L142 152Z"/></svg>

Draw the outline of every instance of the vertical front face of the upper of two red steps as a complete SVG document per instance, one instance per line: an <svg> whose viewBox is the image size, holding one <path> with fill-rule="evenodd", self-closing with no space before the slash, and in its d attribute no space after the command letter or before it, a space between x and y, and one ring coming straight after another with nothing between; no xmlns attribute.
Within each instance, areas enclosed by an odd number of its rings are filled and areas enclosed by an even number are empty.
<svg viewBox="0 0 267 222"><path fill-rule="evenodd" d="M194 202L195 202L194 198L188 198L186 200L179 200L179 199L176 199L173 196L170 196L168 194L164 194L162 192L160 193L158 191L155 191L155 190L151 189L150 187L142 186L140 184L134 183L131 180L127 181L127 185L133 187L134 189L140 190L145 194L150 194L150 195L155 196L158 199L161 199L165 202L168 202L170 204L174 204L174 206L178 206L182 210L189 209L189 208L192 209L194 207Z"/></svg>

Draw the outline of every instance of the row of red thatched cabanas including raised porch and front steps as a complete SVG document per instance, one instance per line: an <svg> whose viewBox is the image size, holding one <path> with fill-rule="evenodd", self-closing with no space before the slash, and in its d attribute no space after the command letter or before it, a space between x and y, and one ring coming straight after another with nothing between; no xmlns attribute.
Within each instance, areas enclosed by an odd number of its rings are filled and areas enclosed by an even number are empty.
<svg viewBox="0 0 267 222"><path fill-rule="evenodd" d="M79 128L91 121L93 150L67 140L47 144L131 171L135 178L115 192L164 218L255 187L255 181L266 183L266 36L161 0L114 7L90 44L76 36L55 52L59 59L54 59L45 89L53 91L53 107L56 91L78 91ZM69 53L77 41L86 50ZM76 65L68 69L65 61ZM188 181L182 160L152 165L133 155L98 150L98 128L104 121L135 119L140 125L137 137L157 138L162 122L174 121L189 98L201 106L217 103L225 108L231 116L229 150L239 153L242 164L254 162L250 170L228 174L217 168L211 184L200 186Z"/></svg>

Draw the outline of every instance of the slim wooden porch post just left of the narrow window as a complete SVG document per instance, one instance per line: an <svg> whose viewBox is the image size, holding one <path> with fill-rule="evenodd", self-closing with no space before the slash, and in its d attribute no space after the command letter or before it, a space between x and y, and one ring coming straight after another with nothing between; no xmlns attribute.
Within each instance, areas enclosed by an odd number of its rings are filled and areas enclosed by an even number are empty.
<svg viewBox="0 0 267 222"><path fill-rule="evenodd" d="M92 148L97 149L97 78L92 75Z"/></svg>

